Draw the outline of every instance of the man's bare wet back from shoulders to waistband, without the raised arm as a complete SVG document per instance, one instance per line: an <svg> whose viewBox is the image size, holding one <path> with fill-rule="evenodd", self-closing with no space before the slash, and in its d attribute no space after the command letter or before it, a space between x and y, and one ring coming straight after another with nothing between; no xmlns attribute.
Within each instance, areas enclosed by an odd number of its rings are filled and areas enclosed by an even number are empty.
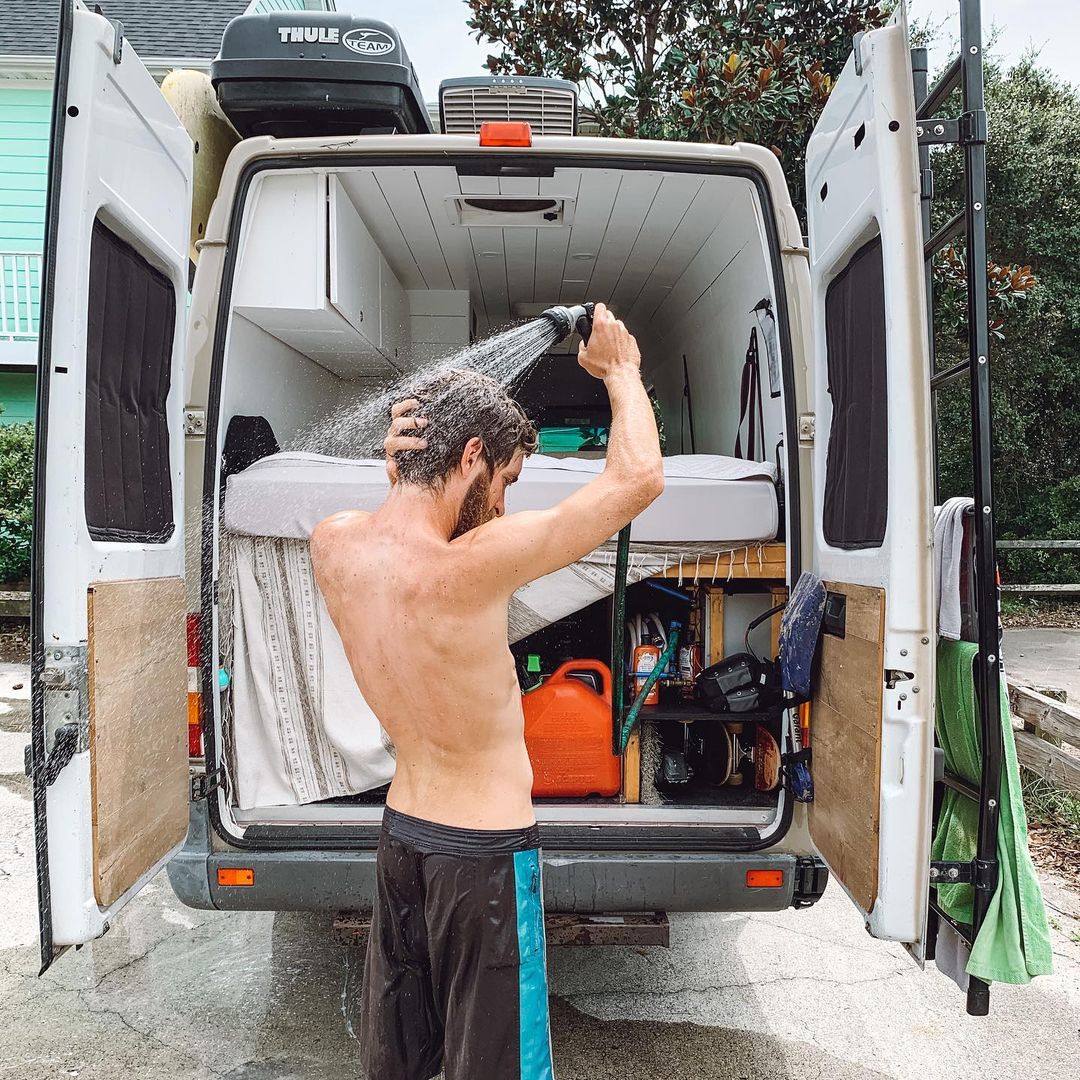
<svg viewBox="0 0 1080 1080"><path fill-rule="evenodd" d="M322 526L336 549L320 573L330 618L396 750L387 804L468 828L529 825L512 589L486 580L470 534L449 541L410 517L340 514Z"/></svg>

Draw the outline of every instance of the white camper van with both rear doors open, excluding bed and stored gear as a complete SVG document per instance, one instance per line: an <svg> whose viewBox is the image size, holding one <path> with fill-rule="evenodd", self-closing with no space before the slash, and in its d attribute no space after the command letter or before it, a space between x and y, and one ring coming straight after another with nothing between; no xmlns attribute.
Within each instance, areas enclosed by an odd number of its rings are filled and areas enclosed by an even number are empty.
<svg viewBox="0 0 1080 1080"><path fill-rule="evenodd" d="M293 16L347 18L278 17ZM802 906L824 888L823 860L868 932L921 961L932 461L902 17L858 40L814 131L809 249L781 166L758 146L262 135L228 154L197 224L190 310L192 140L121 32L78 0L65 5L33 569L43 966L104 934L166 864L198 907L370 904L378 795L241 809L230 782L241 692L221 674L233 660L230 421L260 417L280 445L296 445L410 365L523 313L590 299L637 335L670 448L678 440L712 456L732 454L747 332L768 301L772 366L758 445L743 457L779 467L771 537L661 576L712 586L721 621L701 632L714 657L738 650L746 623L804 570L831 602L810 711L814 800L737 785L649 802L633 794L639 762L635 775L624 764L612 797L538 805L548 910ZM311 48L302 35L281 39ZM329 48L326 35L308 40ZM764 365L773 342L760 340ZM578 383L566 384L564 400L541 404L580 408ZM678 419L689 388L692 443ZM703 515L723 511L711 497L725 498L694 489ZM610 642L595 645L604 656ZM267 677L297 662L283 648ZM780 723L791 750L798 719Z"/></svg>

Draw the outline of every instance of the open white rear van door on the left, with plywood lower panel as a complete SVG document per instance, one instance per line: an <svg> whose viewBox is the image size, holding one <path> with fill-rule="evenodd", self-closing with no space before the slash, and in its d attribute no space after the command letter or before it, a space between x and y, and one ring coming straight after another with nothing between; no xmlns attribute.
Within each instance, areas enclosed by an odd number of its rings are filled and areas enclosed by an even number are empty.
<svg viewBox="0 0 1080 1080"><path fill-rule="evenodd" d="M187 831L183 377L191 143L122 28L60 11L38 357L42 970Z"/></svg>

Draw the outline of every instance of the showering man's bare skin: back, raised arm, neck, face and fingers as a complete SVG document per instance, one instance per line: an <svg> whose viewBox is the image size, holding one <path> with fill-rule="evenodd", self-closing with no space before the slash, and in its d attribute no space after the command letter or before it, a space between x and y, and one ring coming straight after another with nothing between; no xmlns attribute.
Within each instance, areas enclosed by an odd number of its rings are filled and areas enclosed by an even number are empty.
<svg viewBox="0 0 1080 1080"><path fill-rule="evenodd" d="M535 821L510 597L613 536L663 486L637 347L603 305L579 362L607 386L612 424L604 472L558 505L505 515L524 455L492 470L477 436L437 489L403 478L374 514L338 514L312 536L330 618L396 748L387 804L402 813L476 829ZM388 448L417 445L411 427L395 417Z"/></svg>

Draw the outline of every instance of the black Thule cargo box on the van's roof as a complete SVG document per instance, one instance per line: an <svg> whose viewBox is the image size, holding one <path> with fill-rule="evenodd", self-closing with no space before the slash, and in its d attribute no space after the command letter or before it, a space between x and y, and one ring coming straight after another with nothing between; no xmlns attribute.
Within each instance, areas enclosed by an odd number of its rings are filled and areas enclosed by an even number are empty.
<svg viewBox="0 0 1080 1080"><path fill-rule="evenodd" d="M375 18L241 15L225 28L211 80L245 138L432 131L397 31Z"/></svg>

